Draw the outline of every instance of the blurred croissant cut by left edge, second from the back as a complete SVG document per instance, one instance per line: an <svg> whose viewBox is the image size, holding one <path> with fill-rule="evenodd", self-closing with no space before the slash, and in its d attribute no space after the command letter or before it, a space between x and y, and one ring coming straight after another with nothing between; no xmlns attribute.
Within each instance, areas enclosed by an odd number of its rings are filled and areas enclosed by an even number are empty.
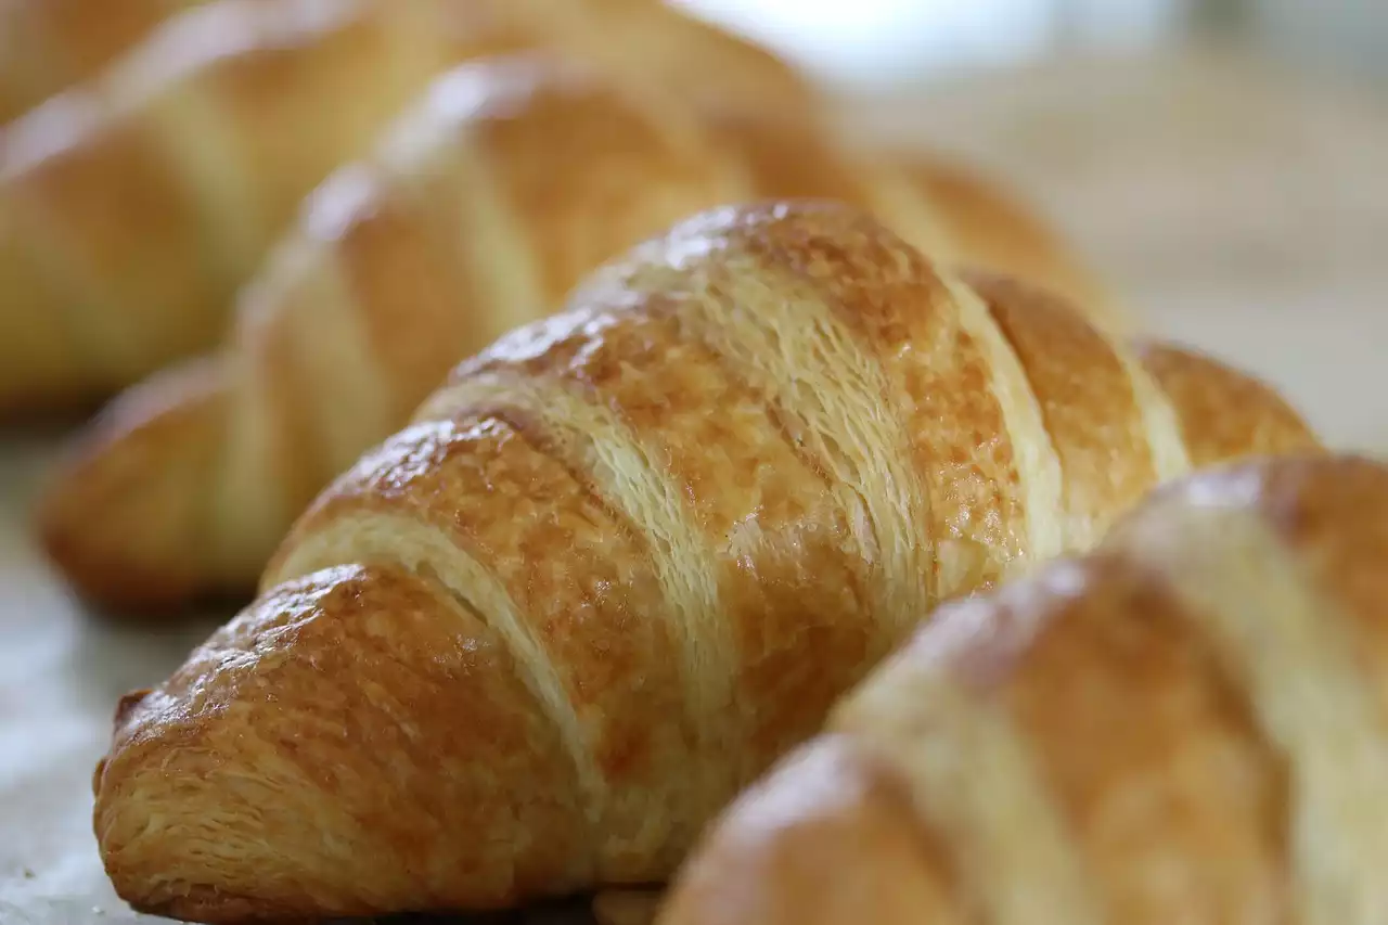
<svg viewBox="0 0 1388 925"><path fill-rule="evenodd" d="M741 86L784 101L799 86L766 53L654 0L566 1L565 15L540 17L545 6L219 0L12 124L0 164L0 414L99 400L212 347L236 288L303 197L458 61L544 49L627 81L666 78L690 100ZM612 43L643 28L638 46ZM705 56L720 79L686 86L690 58ZM758 69L726 65L743 57Z"/></svg>

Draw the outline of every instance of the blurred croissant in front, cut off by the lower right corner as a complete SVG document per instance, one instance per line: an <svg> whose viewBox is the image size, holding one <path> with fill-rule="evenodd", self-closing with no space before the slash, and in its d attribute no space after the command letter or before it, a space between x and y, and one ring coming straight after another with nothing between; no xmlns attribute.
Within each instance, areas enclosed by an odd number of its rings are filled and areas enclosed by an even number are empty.
<svg viewBox="0 0 1388 925"><path fill-rule="evenodd" d="M662 925L1382 921L1385 525L1378 462L1252 462L940 610Z"/></svg>

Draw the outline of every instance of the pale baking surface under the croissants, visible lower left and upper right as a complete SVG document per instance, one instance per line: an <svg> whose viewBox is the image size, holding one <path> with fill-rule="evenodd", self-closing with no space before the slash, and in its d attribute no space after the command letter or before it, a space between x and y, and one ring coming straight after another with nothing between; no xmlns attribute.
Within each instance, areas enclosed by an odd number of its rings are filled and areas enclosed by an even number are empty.
<svg viewBox="0 0 1388 925"><path fill-rule="evenodd" d="M1388 447L1388 111L1183 58L974 79L854 119L1012 178L1149 328L1271 379L1331 443ZM218 615L153 635L67 597L25 535L56 444L0 436L0 924L124 925L140 919L101 875L92 768L115 699Z"/></svg>

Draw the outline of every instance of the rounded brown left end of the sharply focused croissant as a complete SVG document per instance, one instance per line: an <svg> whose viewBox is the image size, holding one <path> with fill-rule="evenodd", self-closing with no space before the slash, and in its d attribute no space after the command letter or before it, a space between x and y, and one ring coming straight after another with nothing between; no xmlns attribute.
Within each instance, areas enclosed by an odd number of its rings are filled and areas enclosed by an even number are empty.
<svg viewBox="0 0 1388 925"><path fill-rule="evenodd" d="M107 871L136 908L201 922L564 892L591 878L587 818L537 715L436 583L304 576L124 703L94 781Z"/></svg>

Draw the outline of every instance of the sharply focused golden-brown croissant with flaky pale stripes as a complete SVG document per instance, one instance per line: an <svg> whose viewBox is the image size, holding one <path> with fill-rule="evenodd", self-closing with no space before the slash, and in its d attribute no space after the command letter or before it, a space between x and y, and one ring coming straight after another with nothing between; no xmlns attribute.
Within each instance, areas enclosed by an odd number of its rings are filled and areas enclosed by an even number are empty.
<svg viewBox="0 0 1388 925"><path fill-rule="evenodd" d="M1120 343L845 206L682 222L458 367L122 701L115 889L232 924L663 882L937 601L1191 465L1316 446Z"/></svg>

